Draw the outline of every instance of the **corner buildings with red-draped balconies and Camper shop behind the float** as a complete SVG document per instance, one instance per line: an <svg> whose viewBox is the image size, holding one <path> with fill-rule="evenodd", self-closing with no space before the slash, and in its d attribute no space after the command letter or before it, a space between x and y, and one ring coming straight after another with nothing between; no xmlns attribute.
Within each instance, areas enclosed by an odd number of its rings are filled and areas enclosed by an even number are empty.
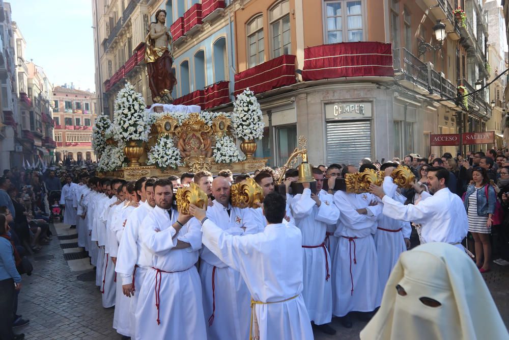
<svg viewBox="0 0 509 340"><path fill-rule="evenodd" d="M158 9L174 40L174 103L229 111L249 87L265 121L255 155L270 165L299 135L315 164L456 153L430 135L485 131L492 117L489 89L475 92L490 76L478 0L95 0L105 113L127 81L151 104L143 54Z"/></svg>

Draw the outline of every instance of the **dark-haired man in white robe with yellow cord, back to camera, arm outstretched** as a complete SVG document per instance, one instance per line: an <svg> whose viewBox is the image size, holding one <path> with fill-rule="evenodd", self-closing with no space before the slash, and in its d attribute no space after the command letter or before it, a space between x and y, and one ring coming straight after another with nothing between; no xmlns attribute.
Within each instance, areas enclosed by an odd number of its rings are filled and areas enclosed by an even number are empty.
<svg viewBox="0 0 509 340"><path fill-rule="evenodd" d="M268 224L263 232L245 236L228 233L208 219L203 209L194 205L190 208L203 223L203 243L207 249L229 268L239 271L248 286L253 339L313 339L302 297L302 236L294 225L281 223L285 206L285 198L280 194L265 196Z"/></svg>

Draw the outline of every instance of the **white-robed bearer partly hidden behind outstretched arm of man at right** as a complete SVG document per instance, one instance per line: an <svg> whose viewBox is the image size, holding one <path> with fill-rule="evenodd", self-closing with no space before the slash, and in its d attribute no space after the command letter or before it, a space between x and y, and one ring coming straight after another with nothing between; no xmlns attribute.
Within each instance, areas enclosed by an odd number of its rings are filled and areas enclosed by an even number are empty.
<svg viewBox="0 0 509 340"><path fill-rule="evenodd" d="M394 184L390 174L394 167L389 164L382 164L380 168L385 171L385 178L383 181L383 190L389 197L401 200L406 199L405 196L397 193L398 186ZM403 201L404 202L404 201ZM402 202L402 203L403 203ZM395 220L384 214L378 215L378 226L375 233L375 247L378 253L378 277L380 280L380 287L383 289L387 280L389 279L390 272L398 262L400 254L410 248L410 234L412 227L409 222Z"/></svg>

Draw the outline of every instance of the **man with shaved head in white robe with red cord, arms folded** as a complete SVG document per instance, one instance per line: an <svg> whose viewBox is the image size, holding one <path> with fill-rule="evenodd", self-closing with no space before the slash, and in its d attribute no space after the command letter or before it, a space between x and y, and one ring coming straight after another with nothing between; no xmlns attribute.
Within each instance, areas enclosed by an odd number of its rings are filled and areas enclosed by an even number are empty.
<svg viewBox="0 0 509 340"><path fill-rule="evenodd" d="M201 180L208 179L209 176L202 177L198 180L199 185ZM228 178L216 177L212 181L212 195L214 200L212 206L207 208L207 217L219 228L228 234L240 236L257 232L257 224L249 210L233 207L230 203ZM201 258L200 279L203 311L208 326L207 338L249 338L251 296L240 273L228 267L205 246Z"/></svg>

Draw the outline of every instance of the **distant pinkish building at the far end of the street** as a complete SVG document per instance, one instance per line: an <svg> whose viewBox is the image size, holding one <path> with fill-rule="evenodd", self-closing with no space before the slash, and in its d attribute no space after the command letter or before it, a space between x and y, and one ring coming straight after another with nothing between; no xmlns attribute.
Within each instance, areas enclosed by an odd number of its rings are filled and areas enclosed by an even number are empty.
<svg viewBox="0 0 509 340"><path fill-rule="evenodd" d="M92 150L92 126L97 117L95 93L66 84L53 87L52 99L56 160L95 162Z"/></svg>

